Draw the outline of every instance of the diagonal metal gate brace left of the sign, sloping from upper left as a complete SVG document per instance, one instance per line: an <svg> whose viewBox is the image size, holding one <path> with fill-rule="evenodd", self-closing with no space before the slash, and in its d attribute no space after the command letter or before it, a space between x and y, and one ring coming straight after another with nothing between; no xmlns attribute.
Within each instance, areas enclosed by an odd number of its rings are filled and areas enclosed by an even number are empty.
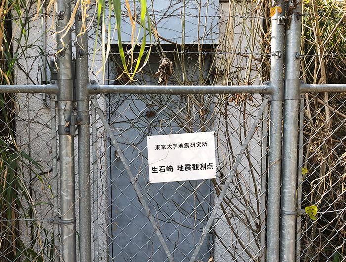
<svg viewBox="0 0 346 262"><path fill-rule="evenodd" d="M152 224L152 226L153 226L153 228L155 230L156 235L159 238L159 241L160 241L160 243L161 243L161 245L162 245L162 247L163 247L163 249L164 249L164 251L166 253L166 256L167 256L168 260L170 262L173 262L172 254L171 254L171 252L169 251L169 249L168 249L168 247L166 245L166 242L165 242L165 240L164 240L164 238L163 238L163 236L162 236L162 234L160 232L159 226L155 222L155 219L154 219L153 215L151 215L150 208L147 205L147 203L145 202L144 196L143 196L142 192L140 191L139 186L138 186L138 184L136 183L136 181L134 179L134 176L133 176L133 174L132 174L132 172L130 170L130 167L129 167L128 163L127 163L127 160L126 160L126 158L125 158L125 156L123 154L123 151L120 149L119 144L117 142L117 139L115 138L115 136L114 136L114 134L113 134L113 132L112 132L112 130L111 130L111 128L110 128L110 126L109 126L109 124L108 124L108 122L107 122L107 120L106 120L106 118L105 118L105 116L104 116L104 114L103 114L103 112L102 112L102 110L101 110L97 100L96 100L96 96L95 95L91 95L90 99L91 99L93 105L95 106L97 114L99 115L99 117L100 117L100 119L101 119L101 121L102 121L102 123L103 123L103 125L104 125L104 127L105 127L105 129L106 129L106 131L108 133L108 135L109 135L109 138L112 141L112 145L115 147L115 150L117 151L117 153L119 155L119 158L120 158L121 162L123 163L123 165L125 167L125 170L126 170L126 172L128 173L128 175L130 177L131 183L132 183L132 185L134 187L134 190L137 193L138 199L139 199L140 203L142 204L142 206L143 206L143 208L144 208L144 210L145 210L145 212L146 212L146 214L147 214L147 216L148 216L148 218L149 218L149 220L150 220L150 222L151 222L151 224Z"/></svg>

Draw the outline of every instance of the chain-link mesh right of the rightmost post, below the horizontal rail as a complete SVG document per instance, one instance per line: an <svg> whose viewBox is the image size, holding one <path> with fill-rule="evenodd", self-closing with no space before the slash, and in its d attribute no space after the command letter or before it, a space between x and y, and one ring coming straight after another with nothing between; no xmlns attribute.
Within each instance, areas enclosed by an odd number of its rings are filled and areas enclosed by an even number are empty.
<svg viewBox="0 0 346 262"><path fill-rule="evenodd" d="M345 93L306 93L301 100L298 208L300 261L345 261ZM312 214L313 215L313 214Z"/></svg>

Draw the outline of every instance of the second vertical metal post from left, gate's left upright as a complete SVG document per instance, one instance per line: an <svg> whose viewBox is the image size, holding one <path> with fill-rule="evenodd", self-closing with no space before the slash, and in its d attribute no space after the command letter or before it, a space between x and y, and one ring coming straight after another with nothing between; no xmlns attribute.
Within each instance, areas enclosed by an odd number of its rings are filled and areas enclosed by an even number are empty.
<svg viewBox="0 0 346 262"><path fill-rule="evenodd" d="M87 18L76 15L76 98L78 125L79 232L80 261L91 262L91 196L90 196L90 114L88 84Z"/></svg>

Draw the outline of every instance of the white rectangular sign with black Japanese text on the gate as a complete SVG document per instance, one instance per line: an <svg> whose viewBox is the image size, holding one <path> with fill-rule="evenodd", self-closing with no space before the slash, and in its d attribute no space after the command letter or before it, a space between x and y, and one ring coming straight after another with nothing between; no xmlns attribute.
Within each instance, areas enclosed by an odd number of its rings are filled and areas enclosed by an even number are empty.
<svg viewBox="0 0 346 262"><path fill-rule="evenodd" d="M216 177L214 132L147 136L150 183Z"/></svg>

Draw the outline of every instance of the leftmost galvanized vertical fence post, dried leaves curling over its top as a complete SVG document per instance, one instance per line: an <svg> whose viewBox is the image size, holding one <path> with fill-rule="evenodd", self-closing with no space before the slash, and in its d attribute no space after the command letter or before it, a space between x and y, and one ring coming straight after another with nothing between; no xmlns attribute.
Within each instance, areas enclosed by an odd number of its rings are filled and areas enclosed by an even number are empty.
<svg viewBox="0 0 346 262"><path fill-rule="evenodd" d="M70 0L56 1L58 115L60 150L61 253L64 262L76 261L75 163L73 114L71 29L66 26L71 17ZM63 36L65 34L65 36Z"/></svg>

